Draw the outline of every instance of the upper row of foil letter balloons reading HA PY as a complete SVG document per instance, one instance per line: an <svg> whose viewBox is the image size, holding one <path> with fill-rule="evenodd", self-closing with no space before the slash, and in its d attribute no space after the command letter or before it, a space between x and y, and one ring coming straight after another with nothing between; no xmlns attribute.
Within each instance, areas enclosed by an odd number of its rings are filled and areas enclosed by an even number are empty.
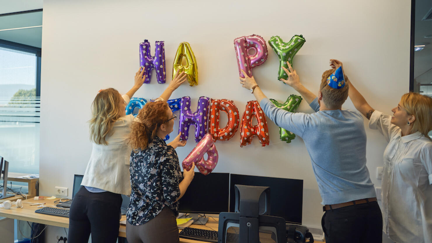
<svg viewBox="0 0 432 243"><path fill-rule="evenodd" d="M272 36L269 45L279 57L278 79L286 79L288 76L282 67L288 68L288 61L292 66L292 59L300 48L305 44L305 38L302 35L294 35L290 41L283 42L279 36ZM245 71L248 76L252 76L252 69L263 64L268 57L267 44L264 38L259 35L242 36L234 39L234 48L237 58L238 73L244 78L241 70ZM182 64L183 57L186 64ZM164 41L155 42L155 55L150 53L150 43L148 40L140 43L140 65L145 68L144 83L150 83L152 69L156 69L157 81L160 84L165 83L165 44ZM172 76L174 78L177 71L184 71L190 86L198 85L198 66L191 45L187 42L181 42L178 45L172 65Z"/></svg>

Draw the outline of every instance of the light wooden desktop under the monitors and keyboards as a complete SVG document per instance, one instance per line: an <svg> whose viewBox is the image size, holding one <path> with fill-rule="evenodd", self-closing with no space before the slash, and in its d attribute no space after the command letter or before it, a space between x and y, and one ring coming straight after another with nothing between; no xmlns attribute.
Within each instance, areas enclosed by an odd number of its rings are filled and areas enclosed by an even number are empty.
<svg viewBox="0 0 432 243"><path fill-rule="evenodd" d="M22 201L23 202L23 208L16 208L15 205L11 209L0 208L0 217L13 218L13 219L18 219L18 220L22 220L22 221L29 221L29 222L39 223L39 224L68 228L69 227L69 218L35 213L35 210L38 209L38 206L37 205L30 206L30 204L27 203L27 202L31 202L31 203L43 203L44 202L46 206L55 207L55 205L54 205L55 200L56 199L53 199L53 200L48 200L48 199L34 200L33 198L23 200ZM125 220L125 219L126 219L126 215L122 215L121 220ZM219 220L218 218L209 218L209 221L207 222L206 225L192 224L191 227L205 229L205 230L210 230L210 228L208 228L208 227L211 227L213 230L218 230L218 226L219 226L218 220ZM179 232L180 232L180 230L179 230ZM118 230L118 236L126 238L126 226L125 225L120 224L120 228ZM119 242L122 242L122 241L123 240L119 240ZM203 241L189 240L189 239L184 239L184 238L180 238L180 242L181 243L203 243ZM318 242L318 241L316 241L316 242Z"/></svg>

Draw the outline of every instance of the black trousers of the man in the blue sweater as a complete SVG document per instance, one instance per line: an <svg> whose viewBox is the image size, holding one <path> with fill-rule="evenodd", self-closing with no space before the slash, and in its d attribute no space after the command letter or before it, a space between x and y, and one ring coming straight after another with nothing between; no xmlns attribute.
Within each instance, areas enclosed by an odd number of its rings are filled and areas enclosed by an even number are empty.
<svg viewBox="0 0 432 243"><path fill-rule="evenodd" d="M326 243L382 243L378 202L327 210L321 220Z"/></svg>

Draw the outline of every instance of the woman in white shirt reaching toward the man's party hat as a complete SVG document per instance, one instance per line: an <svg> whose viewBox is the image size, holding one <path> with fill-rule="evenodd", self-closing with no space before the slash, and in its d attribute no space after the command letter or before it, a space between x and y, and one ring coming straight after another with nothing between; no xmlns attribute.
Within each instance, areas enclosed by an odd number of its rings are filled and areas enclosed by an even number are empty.
<svg viewBox="0 0 432 243"><path fill-rule="evenodd" d="M330 61L333 68L342 65ZM374 110L352 82L349 98L388 142L381 182L384 233L397 243L432 242L432 98L402 95L393 116Z"/></svg>

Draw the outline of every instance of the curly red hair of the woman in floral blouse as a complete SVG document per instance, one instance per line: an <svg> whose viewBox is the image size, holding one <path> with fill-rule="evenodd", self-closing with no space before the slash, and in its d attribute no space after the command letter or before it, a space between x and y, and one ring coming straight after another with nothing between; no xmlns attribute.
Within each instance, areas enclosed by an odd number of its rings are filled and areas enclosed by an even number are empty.
<svg viewBox="0 0 432 243"><path fill-rule="evenodd" d="M156 137L159 126L167 122L168 104L165 101L149 102L138 112L139 121L130 126L130 146L132 149L146 149Z"/></svg>

